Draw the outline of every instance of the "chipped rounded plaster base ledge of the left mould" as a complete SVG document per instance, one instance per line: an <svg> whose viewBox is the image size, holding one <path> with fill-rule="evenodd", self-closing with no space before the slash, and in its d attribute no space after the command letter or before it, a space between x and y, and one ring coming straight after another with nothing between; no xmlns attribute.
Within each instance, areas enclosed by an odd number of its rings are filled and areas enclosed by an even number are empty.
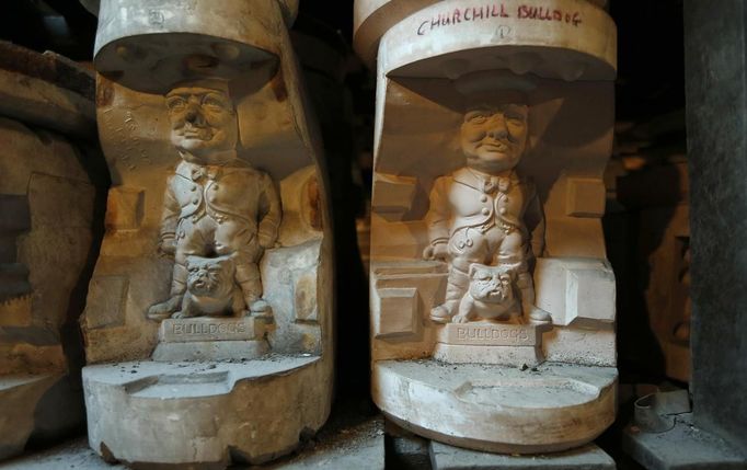
<svg viewBox="0 0 747 470"><path fill-rule="evenodd" d="M89 443L129 463L258 463L292 450L326 420L329 383L313 356L230 363L89 366Z"/></svg>

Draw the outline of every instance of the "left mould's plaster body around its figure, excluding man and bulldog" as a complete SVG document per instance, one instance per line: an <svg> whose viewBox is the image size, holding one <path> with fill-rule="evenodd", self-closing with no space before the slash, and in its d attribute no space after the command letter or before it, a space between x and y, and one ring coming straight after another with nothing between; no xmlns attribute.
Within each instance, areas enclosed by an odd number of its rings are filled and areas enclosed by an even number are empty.
<svg viewBox="0 0 747 470"><path fill-rule="evenodd" d="M140 467L263 462L290 452L329 415L329 182L287 31L296 3L101 2L97 119L117 187L107 213L127 213L110 216L114 223L91 284L100 288L89 290L83 328L87 360L95 364L83 371L89 440L102 456ZM157 357L163 360L146 360L158 343L158 323L145 313L171 286L173 262L158 255L157 244L165 181L181 161L163 92L189 76L186 62L200 68L195 60L203 59L212 60L216 78L237 79L230 96L237 157L267 173L283 202L279 238L268 242L260 265L274 317L266 334L273 354L251 359L264 340L200 341L161 344ZM182 359L200 353L230 360L166 362L180 353L186 353Z"/></svg>

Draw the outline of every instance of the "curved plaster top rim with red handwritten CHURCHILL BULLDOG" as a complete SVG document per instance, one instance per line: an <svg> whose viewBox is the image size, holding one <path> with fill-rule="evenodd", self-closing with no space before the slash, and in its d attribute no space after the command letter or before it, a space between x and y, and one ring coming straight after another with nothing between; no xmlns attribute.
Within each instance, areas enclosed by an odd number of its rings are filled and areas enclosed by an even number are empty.
<svg viewBox="0 0 747 470"><path fill-rule="evenodd" d="M544 21L522 18L527 7L548 8L537 0L506 0L495 7L447 0L426 7L383 35L379 70L450 79L499 68L566 81L614 78L617 35L609 34L614 23L607 13L586 2L555 0L552 7L563 12L561 20ZM472 14L464 21L473 9L482 10L482 18ZM453 20L457 10L462 21ZM579 21L567 21L566 14Z"/></svg>

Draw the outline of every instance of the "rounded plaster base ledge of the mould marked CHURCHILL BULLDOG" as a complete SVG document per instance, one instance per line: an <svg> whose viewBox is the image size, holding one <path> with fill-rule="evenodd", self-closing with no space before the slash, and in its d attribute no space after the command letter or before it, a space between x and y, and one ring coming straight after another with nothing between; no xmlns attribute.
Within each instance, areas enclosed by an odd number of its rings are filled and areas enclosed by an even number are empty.
<svg viewBox="0 0 747 470"><path fill-rule="evenodd" d="M614 421L617 370L609 367L379 360L372 381L375 403L400 426L478 450L564 450Z"/></svg>

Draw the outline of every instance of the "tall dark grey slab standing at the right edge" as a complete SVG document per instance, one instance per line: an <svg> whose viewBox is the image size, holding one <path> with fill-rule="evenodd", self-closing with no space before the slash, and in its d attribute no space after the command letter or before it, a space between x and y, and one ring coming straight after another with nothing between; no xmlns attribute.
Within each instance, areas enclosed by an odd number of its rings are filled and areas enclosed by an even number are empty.
<svg viewBox="0 0 747 470"><path fill-rule="evenodd" d="M747 4L687 0L683 13L693 422L747 454Z"/></svg>

